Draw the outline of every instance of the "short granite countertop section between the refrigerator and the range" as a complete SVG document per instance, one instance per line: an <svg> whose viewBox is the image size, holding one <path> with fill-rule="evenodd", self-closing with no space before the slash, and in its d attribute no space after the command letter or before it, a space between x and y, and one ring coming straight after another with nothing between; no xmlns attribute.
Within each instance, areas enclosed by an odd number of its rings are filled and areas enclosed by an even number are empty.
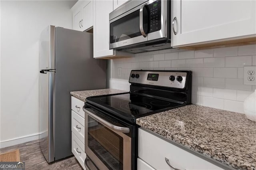
<svg viewBox="0 0 256 170"><path fill-rule="evenodd" d="M127 91L122 91L118 89L98 89L98 90L84 90L84 91L72 91L70 94L77 99L85 102L86 97L99 96L99 95L110 95L115 93L125 93Z"/></svg>

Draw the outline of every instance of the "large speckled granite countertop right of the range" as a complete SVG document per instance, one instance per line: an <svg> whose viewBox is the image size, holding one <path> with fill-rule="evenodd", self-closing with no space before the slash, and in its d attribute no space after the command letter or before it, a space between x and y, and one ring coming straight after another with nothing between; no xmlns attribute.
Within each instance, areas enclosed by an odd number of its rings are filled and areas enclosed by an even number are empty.
<svg viewBox="0 0 256 170"><path fill-rule="evenodd" d="M244 114L187 105L136 123L232 168L256 170L256 123Z"/></svg>

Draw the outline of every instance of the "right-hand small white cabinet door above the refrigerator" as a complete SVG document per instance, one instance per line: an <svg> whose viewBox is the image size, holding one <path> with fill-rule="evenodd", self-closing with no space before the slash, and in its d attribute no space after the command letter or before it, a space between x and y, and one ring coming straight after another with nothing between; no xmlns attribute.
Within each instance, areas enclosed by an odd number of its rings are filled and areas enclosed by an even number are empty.
<svg viewBox="0 0 256 170"><path fill-rule="evenodd" d="M86 1L83 6L83 13L84 18L82 20L82 28L83 30L87 30L88 28L92 27L92 1Z"/></svg>

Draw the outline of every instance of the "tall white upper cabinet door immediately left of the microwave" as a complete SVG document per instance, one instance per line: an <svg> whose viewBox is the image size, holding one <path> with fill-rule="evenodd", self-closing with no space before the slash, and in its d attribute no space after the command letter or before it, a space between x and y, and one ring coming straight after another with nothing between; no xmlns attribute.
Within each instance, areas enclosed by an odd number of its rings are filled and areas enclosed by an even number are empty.
<svg viewBox="0 0 256 170"><path fill-rule="evenodd" d="M93 57L111 56L109 49L109 13L113 11L113 0L93 1Z"/></svg>

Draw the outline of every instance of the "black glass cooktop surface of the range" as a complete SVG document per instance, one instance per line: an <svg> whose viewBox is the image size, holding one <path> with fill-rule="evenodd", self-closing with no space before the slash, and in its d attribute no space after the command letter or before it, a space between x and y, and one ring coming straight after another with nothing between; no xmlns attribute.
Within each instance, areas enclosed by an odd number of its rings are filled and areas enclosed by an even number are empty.
<svg viewBox="0 0 256 170"><path fill-rule="evenodd" d="M135 93L88 97L86 101L97 105L100 109L114 111L130 118L141 117L153 112L157 113L181 105L180 103L155 99Z"/></svg>

